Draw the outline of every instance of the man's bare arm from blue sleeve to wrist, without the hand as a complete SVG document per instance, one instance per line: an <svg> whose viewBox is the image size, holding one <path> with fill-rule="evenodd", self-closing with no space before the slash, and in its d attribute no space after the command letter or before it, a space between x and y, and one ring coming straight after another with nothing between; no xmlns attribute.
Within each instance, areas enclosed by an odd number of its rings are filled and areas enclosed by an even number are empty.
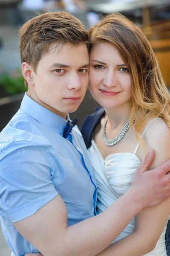
<svg viewBox="0 0 170 256"><path fill-rule="evenodd" d="M100 215L68 227L66 206L57 195L34 215L13 224L43 256L94 256L109 246L140 211L140 204L131 204L134 199L130 192ZM122 221L124 207L129 213Z"/></svg>

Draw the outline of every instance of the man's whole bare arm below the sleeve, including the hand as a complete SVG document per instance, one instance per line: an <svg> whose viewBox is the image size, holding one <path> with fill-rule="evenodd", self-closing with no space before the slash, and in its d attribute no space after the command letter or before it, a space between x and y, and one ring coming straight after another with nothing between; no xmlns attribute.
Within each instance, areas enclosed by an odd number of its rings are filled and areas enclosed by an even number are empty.
<svg viewBox="0 0 170 256"><path fill-rule="evenodd" d="M145 172L154 158L151 153L138 168L132 187L100 215L68 227L66 207L58 195L14 226L43 256L95 256L118 237L141 209L170 196L170 174L165 175L170 170L170 160Z"/></svg>

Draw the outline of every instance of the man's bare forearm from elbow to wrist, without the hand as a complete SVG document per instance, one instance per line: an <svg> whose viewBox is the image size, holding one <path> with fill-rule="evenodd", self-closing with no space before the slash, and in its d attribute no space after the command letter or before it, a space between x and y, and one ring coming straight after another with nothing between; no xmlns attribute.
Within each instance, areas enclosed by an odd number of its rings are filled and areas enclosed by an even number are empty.
<svg viewBox="0 0 170 256"><path fill-rule="evenodd" d="M95 256L108 247L141 211L141 205L134 198L134 191L129 190L98 216L67 227L66 236L63 236L65 247L61 255Z"/></svg>

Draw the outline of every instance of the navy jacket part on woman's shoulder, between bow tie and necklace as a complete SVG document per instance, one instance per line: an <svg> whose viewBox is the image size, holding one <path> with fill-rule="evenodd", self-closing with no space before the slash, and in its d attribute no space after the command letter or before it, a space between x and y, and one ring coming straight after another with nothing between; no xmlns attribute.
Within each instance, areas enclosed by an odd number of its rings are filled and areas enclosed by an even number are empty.
<svg viewBox="0 0 170 256"><path fill-rule="evenodd" d="M81 128L81 134L83 135L84 142L87 148L89 148L91 145L92 134L95 128L100 123L104 113L105 113L104 108L100 106L96 108L91 115L86 116L86 118L84 119L84 122Z"/></svg>

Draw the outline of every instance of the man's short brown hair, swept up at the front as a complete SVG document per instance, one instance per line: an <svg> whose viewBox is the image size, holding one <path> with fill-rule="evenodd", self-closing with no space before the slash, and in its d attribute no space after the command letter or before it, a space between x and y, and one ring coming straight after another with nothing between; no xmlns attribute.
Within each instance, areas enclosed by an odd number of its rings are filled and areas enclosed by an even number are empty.
<svg viewBox="0 0 170 256"><path fill-rule="evenodd" d="M67 12L47 12L27 21L20 29L21 62L36 72L40 58L51 44L88 45L88 32L76 17ZM25 81L27 87L27 82Z"/></svg>

